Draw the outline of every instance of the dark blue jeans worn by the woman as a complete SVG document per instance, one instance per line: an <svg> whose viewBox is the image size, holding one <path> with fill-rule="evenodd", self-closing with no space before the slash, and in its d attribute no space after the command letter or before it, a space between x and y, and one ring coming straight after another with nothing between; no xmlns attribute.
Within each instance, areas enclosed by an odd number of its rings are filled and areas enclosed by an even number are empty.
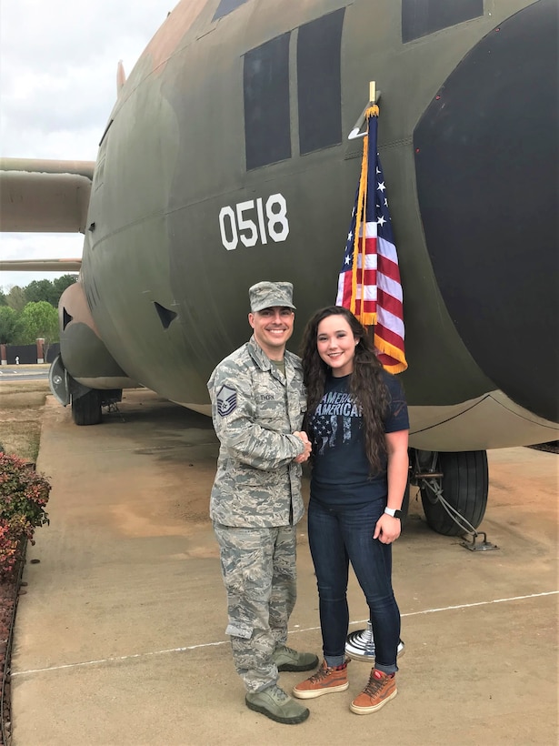
<svg viewBox="0 0 559 746"><path fill-rule="evenodd" d="M392 590L392 547L373 539L384 500L348 509L327 506L311 498L308 509L309 546L318 583L324 658L344 656L349 626L347 579L351 561L373 625L374 666L385 673L398 670L400 611Z"/></svg>

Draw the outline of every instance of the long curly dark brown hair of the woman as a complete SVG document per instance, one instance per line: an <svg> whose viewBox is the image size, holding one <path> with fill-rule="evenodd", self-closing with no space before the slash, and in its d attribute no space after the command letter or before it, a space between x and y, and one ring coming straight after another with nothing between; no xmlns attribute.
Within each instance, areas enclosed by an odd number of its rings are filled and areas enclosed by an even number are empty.
<svg viewBox="0 0 559 746"><path fill-rule="evenodd" d="M342 306L321 308L309 319L304 328L299 352L303 360L307 398L304 428L308 429L309 420L324 396L326 378L332 375L330 366L324 363L316 348L318 325L329 316L344 317L354 338L359 339L355 345L354 371L350 378L349 390L362 410L365 455L371 472L378 472L383 469L386 455L383 420L388 412L390 394L384 383L383 367L374 354L372 338L354 314Z"/></svg>

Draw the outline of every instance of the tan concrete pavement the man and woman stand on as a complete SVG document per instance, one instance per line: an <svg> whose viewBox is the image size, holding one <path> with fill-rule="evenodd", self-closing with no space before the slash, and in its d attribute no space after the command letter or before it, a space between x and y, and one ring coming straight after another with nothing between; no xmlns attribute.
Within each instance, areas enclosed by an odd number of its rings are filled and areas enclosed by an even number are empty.
<svg viewBox="0 0 559 746"><path fill-rule="evenodd" d="M557 741L557 456L490 453L470 552L413 502L394 545L406 652L398 696L358 717L349 691L309 701L284 726L248 711L225 638L225 591L207 519L216 441L209 421L146 390L76 428L47 398L38 469L52 479L50 527L28 549L12 659L13 746L550 746ZM304 522L293 647L320 653ZM40 560L32 564L31 560ZM352 630L364 626L354 578ZM290 689L301 674L284 673Z"/></svg>

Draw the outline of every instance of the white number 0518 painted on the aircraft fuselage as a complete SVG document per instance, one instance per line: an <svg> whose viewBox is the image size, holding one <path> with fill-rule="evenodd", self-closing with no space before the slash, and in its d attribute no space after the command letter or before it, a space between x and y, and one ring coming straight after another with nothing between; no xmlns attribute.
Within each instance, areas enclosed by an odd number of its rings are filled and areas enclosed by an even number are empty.
<svg viewBox="0 0 559 746"><path fill-rule="evenodd" d="M264 203L262 197L239 202L234 207L222 207L219 213L221 242L227 251L238 247L239 240L245 247L268 239L284 241L289 236L287 203L283 195L270 195Z"/></svg>

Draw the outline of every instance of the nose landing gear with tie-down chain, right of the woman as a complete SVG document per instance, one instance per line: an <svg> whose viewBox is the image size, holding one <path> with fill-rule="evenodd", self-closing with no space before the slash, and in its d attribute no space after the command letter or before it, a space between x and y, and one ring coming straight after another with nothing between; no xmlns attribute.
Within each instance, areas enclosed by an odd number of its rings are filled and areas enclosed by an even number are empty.
<svg viewBox="0 0 559 746"><path fill-rule="evenodd" d="M487 507L484 450L443 453L414 449L412 464L412 482L419 486L425 519L434 531L444 536L461 536L479 526ZM450 509L439 499L441 495ZM461 523L460 517L466 522Z"/></svg>

